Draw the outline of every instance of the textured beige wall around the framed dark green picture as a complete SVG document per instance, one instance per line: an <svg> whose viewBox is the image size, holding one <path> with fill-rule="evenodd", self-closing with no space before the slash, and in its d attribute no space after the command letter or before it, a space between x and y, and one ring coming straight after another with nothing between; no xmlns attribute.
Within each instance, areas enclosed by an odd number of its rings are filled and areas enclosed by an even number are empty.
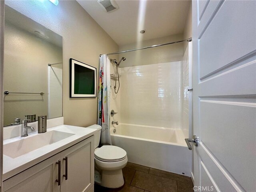
<svg viewBox="0 0 256 192"><path fill-rule="evenodd" d="M14 1L6 4L63 37L64 123L89 126L97 122L97 98L69 98L69 59L97 68L99 55L118 51L118 45L76 2ZM98 78L97 78L98 79Z"/></svg>

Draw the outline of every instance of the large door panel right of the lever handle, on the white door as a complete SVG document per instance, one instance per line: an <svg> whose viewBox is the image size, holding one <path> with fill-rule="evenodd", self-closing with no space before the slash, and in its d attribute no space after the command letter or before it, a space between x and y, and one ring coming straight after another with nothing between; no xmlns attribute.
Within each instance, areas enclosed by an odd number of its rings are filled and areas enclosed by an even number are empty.
<svg viewBox="0 0 256 192"><path fill-rule="evenodd" d="M233 100L200 100L201 141L236 181L249 186L256 182L256 105Z"/></svg>

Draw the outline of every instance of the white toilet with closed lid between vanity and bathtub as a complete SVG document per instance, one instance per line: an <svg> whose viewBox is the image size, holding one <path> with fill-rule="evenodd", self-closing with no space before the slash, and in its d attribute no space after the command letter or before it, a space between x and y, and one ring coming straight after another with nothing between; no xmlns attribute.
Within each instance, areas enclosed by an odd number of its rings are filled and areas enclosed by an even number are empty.
<svg viewBox="0 0 256 192"><path fill-rule="evenodd" d="M94 135L94 181L96 184L107 188L119 188L124 185L122 168L127 164L126 151L118 146L100 144L100 125L88 128L97 129Z"/></svg>

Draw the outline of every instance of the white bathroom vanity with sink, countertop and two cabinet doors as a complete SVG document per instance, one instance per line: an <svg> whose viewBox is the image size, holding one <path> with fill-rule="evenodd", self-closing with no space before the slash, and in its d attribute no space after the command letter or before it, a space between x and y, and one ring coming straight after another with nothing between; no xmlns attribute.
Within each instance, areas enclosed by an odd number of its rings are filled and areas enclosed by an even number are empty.
<svg viewBox="0 0 256 192"><path fill-rule="evenodd" d="M35 130L25 138L5 139L3 191L93 192L95 132L59 125L42 134Z"/></svg>

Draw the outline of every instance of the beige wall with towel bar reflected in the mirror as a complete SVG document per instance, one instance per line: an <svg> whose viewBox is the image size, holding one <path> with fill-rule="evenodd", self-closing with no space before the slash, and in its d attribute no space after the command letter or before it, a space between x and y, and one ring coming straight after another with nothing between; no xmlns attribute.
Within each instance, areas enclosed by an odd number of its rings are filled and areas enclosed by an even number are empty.
<svg viewBox="0 0 256 192"><path fill-rule="evenodd" d="M14 117L48 115L48 63L62 61L62 48L6 22L4 29L4 90L44 92L4 96L4 126ZM61 92L61 90L60 90ZM60 98L61 99L61 98ZM60 109L61 110L61 109ZM62 116L62 112L55 117Z"/></svg>

